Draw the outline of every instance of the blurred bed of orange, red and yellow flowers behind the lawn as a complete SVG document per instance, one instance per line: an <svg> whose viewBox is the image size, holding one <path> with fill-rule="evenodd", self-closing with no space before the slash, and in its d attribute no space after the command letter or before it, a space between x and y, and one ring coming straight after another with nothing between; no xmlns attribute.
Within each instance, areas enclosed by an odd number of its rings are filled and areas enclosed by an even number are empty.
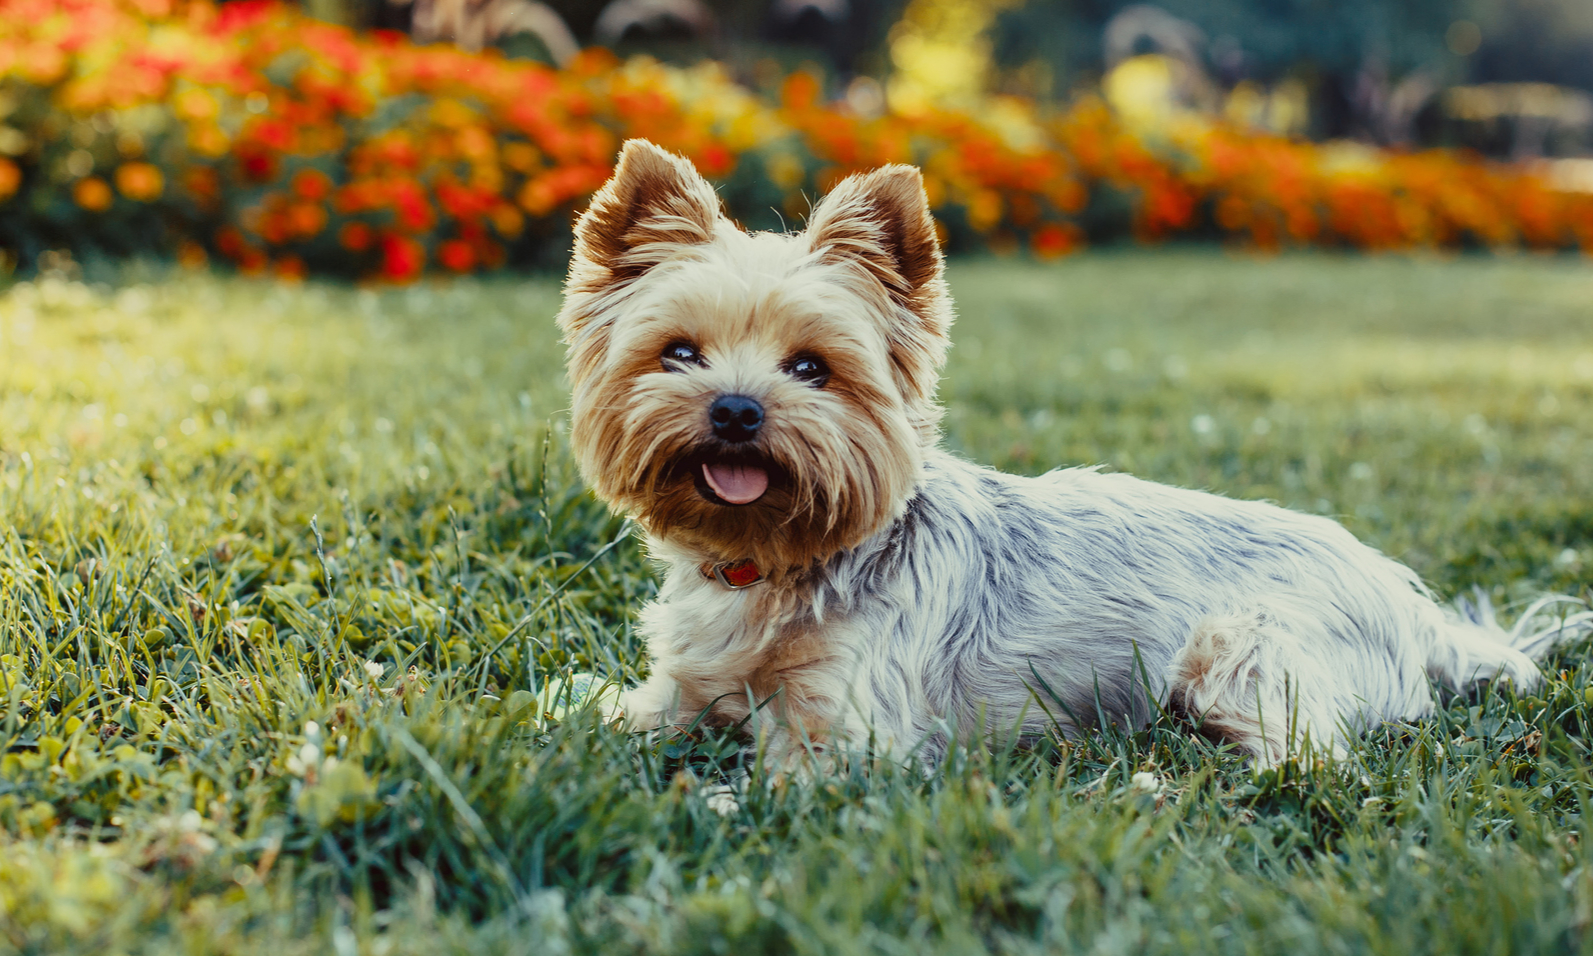
<svg viewBox="0 0 1593 956"><path fill-rule="evenodd" d="M914 163L954 250L1188 234L1593 253L1593 193L1528 167L1144 126L1096 97L910 116L859 100L803 73L774 100L715 64L602 51L556 70L261 0L0 0L0 247L400 282L558 268L572 214L640 135L755 226L800 218L847 172Z"/></svg>

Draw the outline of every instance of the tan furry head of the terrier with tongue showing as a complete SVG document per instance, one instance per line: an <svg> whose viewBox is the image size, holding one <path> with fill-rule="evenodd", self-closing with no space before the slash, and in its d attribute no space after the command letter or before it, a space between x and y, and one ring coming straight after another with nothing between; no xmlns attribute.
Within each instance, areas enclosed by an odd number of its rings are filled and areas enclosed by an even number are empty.
<svg viewBox="0 0 1593 956"><path fill-rule="evenodd" d="M688 161L631 140L575 226L559 314L581 472L707 559L808 566L911 496L949 325L916 169L747 234Z"/></svg>

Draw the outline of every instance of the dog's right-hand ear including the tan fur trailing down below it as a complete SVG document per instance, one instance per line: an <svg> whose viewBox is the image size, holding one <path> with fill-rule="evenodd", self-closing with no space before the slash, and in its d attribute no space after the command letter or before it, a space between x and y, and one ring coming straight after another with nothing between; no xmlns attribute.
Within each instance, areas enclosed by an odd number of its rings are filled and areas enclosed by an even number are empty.
<svg viewBox="0 0 1593 956"><path fill-rule="evenodd" d="M913 166L883 166L830 190L808 220L808 247L851 261L879 280L908 312L886 330L903 386L929 400L945 363L951 296L929 214L924 177Z"/></svg>

